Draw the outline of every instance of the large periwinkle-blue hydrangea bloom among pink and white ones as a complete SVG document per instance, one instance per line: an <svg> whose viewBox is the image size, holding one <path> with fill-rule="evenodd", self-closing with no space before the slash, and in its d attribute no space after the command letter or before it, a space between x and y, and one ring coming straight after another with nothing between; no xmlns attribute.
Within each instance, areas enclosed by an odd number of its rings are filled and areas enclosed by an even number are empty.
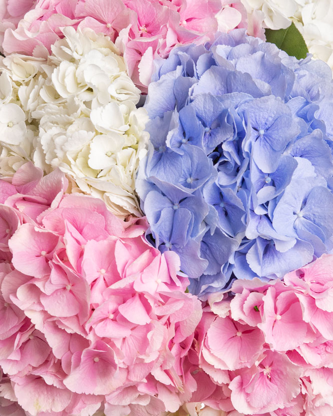
<svg viewBox="0 0 333 416"><path fill-rule="evenodd" d="M240 29L159 63L136 187L192 293L282 278L332 249L331 76Z"/></svg>

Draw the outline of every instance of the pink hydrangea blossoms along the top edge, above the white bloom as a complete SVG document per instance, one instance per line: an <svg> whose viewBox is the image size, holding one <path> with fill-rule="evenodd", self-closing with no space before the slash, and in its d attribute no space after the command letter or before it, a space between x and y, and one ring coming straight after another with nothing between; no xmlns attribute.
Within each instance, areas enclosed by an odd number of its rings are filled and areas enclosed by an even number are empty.
<svg viewBox="0 0 333 416"><path fill-rule="evenodd" d="M3 8L4 15L13 13L13 3ZM246 21L240 0L38 0L32 7L33 3L25 2L20 16L31 10L17 27L4 26L6 55L45 58L63 36L59 28L90 28L117 40L130 77L142 87L150 81L153 60L166 58L175 45L204 43L217 30L245 27Z"/></svg>

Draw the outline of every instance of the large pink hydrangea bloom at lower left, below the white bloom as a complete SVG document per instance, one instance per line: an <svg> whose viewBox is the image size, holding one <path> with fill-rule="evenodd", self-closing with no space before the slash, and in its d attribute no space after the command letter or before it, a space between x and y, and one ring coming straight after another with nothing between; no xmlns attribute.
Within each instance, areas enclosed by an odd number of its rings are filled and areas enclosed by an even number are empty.
<svg viewBox="0 0 333 416"><path fill-rule="evenodd" d="M32 416L176 411L196 388L183 361L201 303L178 256L145 241L145 219L67 186L32 163L0 180L0 403Z"/></svg>

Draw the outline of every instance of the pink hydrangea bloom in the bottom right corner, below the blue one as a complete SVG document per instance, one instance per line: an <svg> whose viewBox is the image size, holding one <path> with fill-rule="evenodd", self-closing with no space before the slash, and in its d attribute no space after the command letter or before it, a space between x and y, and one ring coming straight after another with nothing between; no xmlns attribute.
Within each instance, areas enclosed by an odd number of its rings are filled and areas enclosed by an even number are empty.
<svg viewBox="0 0 333 416"><path fill-rule="evenodd" d="M333 405L333 255L280 280L211 295L197 328L207 404L232 416L329 414ZM205 413L203 413L205 414Z"/></svg>

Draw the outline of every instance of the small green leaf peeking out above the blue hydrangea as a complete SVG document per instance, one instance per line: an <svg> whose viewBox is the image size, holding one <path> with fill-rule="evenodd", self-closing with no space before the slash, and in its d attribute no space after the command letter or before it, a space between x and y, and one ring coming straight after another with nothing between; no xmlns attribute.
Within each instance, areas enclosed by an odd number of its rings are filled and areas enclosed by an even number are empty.
<svg viewBox="0 0 333 416"><path fill-rule="evenodd" d="M297 59L306 58L308 53L305 41L292 22L289 28L272 31L265 30L266 41L275 44L279 49Z"/></svg>

